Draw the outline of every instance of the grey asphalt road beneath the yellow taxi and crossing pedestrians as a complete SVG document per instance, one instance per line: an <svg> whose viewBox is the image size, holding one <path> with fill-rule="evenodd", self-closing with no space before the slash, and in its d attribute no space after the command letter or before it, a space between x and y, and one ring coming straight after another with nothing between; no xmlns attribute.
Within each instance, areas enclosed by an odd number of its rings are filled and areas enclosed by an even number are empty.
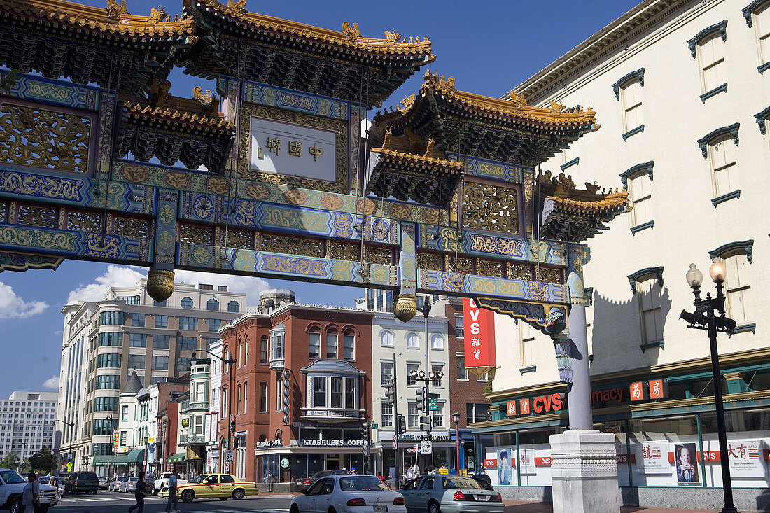
<svg viewBox="0 0 770 513"><path fill-rule="evenodd" d="M197 511L198 513L242 513L254 511L259 513L288 513L292 497L276 495L260 495L246 497L242 501L220 501L219 499L197 499L192 502L179 501L179 511ZM114 491L100 490L97 495L65 495L59 505L51 508L50 513L122 513L134 505L133 494L121 494ZM160 513L166 509L166 499L156 496L145 498L144 513ZM136 511L136 510L135 510Z"/></svg>

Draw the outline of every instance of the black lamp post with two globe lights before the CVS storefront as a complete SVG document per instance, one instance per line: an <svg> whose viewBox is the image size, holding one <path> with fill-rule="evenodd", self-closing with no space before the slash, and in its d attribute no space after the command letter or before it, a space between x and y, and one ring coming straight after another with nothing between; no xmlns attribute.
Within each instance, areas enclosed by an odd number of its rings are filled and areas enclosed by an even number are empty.
<svg viewBox="0 0 770 513"><path fill-rule="evenodd" d="M716 259L708 269L711 280L717 287L717 296L711 297L711 293L706 293L706 298L701 300L701 283L703 283L703 273L695 267L695 263L690 264L690 270L687 271L687 283L692 287L692 293L695 295L695 312L692 314L681 310L680 319L688 322L694 330L708 331L708 342L711 345L711 373L714 381L714 401L717 414L717 431L719 435L719 461L722 470L722 489L725 492L725 505L722 507L722 513L737 513L737 509L732 501L732 480L730 478L730 455L727 446L727 429L725 428L725 406L722 404L721 379L719 373L719 351L717 348L717 332L734 334L735 320L725 315L725 293L724 283L727 276L727 267L724 260ZM718 314L718 316L717 316Z"/></svg>

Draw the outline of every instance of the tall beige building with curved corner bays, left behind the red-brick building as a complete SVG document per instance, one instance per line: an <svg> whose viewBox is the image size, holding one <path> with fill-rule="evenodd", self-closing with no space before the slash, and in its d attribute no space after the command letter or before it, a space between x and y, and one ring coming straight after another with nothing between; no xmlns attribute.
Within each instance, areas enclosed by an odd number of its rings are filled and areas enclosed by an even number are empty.
<svg viewBox="0 0 770 513"><path fill-rule="evenodd" d="M189 373L192 352L219 340L219 327L245 310L245 293L206 283L175 283L172 296L157 303L146 279L112 287L99 302L65 305L57 427L62 462L83 470L94 457L112 455L119 395L132 371L140 387Z"/></svg>

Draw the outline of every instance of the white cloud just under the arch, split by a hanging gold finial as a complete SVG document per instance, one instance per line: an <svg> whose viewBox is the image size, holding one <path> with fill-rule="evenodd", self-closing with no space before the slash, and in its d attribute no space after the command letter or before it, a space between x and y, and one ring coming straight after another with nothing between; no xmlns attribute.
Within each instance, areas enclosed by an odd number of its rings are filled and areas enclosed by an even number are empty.
<svg viewBox="0 0 770 513"><path fill-rule="evenodd" d="M143 271L144 269L142 267L109 266L105 273L95 278L95 283L81 285L72 290L67 301L101 301L109 287L132 287L136 285L137 281L146 277L146 273L139 272L139 270ZM215 286L226 285L230 292L245 292L250 304L259 303L259 293L270 288L269 284L262 278L190 270L175 270L174 281L193 285L198 283L211 283Z"/></svg>

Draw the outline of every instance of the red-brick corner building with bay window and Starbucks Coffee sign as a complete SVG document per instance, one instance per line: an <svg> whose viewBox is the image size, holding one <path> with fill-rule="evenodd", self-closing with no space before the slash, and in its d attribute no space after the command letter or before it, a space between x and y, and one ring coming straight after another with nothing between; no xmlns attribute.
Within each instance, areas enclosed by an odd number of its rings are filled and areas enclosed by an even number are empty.
<svg viewBox="0 0 770 513"><path fill-rule="evenodd" d="M325 469L363 468L373 313L293 298L290 290L266 290L256 314L220 331L225 358L236 360L222 374L220 445L226 448L232 416L235 461L229 471L249 481L287 483Z"/></svg>

